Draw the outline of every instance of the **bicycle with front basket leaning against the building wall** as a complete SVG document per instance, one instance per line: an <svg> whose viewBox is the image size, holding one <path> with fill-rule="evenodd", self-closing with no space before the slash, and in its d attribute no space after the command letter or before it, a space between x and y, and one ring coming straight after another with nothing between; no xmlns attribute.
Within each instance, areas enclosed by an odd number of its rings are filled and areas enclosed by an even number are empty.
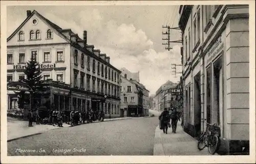
<svg viewBox="0 0 256 164"><path fill-rule="evenodd" d="M206 125L206 131L199 138L197 147L199 150L208 147L209 153L215 154L220 147L220 128L216 126L216 123L206 123Z"/></svg>

